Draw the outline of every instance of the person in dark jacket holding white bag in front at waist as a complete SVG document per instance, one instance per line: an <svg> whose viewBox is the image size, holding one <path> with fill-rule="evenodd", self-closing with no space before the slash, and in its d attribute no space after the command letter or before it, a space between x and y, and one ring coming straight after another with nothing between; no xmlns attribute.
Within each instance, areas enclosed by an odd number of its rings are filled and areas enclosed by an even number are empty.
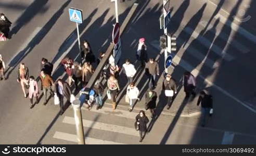
<svg viewBox="0 0 256 156"><path fill-rule="evenodd" d="M166 75L166 79L163 81L162 86L163 91L165 92L165 96L167 96L167 109L170 109L172 103L172 97L177 93L177 85L175 81L172 79L171 74ZM172 90L173 95L166 94L167 91Z"/></svg>

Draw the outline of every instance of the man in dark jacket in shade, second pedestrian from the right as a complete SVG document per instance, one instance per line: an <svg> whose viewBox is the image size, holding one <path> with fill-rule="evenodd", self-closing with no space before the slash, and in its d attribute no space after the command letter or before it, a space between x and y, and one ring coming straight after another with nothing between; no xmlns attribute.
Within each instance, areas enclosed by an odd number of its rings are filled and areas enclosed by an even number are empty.
<svg viewBox="0 0 256 156"><path fill-rule="evenodd" d="M184 73L183 77L183 85L184 85L184 92L186 93L186 98L190 96L190 94L193 95L193 98L195 98L196 93L196 79L195 76L192 75L190 72L186 71Z"/></svg>

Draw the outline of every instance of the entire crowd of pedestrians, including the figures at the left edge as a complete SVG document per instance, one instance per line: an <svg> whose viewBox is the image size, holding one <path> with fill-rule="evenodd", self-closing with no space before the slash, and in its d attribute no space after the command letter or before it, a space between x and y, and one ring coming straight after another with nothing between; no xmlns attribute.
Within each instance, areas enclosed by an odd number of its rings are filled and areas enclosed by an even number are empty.
<svg viewBox="0 0 256 156"><path fill-rule="evenodd" d="M2 37L9 37L11 22L4 14L0 14L0 32L2 32ZM1 36L0 36L1 37ZM44 95L44 105L47 104L50 98L54 98L54 103L60 106L60 115L65 112L65 103L64 99L67 102L71 103L75 97L72 93L72 86L74 85L75 90L81 90L86 87L92 75L94 74L93 63L96 62L98 65L100 61L105 57L105 54L101 52L99 57L96 59L93 54L92 48L88 41L83 41L81 45L81 58L83 63L80 64L74 61L72 58L66 57L62 59L61 64L65 69L66 74L68 75L68 83L62 79L54 81L52 77L53 64L50 63L46 58L42 58L40 64L40 73L39 77L41 80L41 90L43 90ZM156 88L157 76L160 75L159 64L158 62L149 57L147 54L147 46L145 38L140 38L138 42L138 48L136 51L136 59L139 62L139 67L144 69L148 77L148 90L144 94L145 98L145 110L149 109L151 118L154 118L156 115L157 108L157 92L154 90ZM120 68L118 64L114 61L109 62L104 66L101 71L101 77L104 77L107 81L107 96L112 101L112 109L117 108L117 96L120 92L119 85L119 75L123 70L128 86L126 88L125 101L129 103L129 111L132 112L137 100L140 100L139 94L140 90L135 85L134 77L137 73L134 64L131 63L130 59L126 59ZM64 72L64 71L63 71ZM6 80L5 77L5 62L3 56L0 55L0 80ZM30 99L30 108L33 108L35 99L35 104L39 103L40 89L39 84L37 83L33 75L29 75L29 68L25 66L25 63L20 63L17 70L17 82L21 85L21 89L25 98L29 96ZM186 94L185 98L189 98L190 95L193 96L193 99L196 96L196 78L193 74L186 71L183 75L182 84L184 85L184 92ZM101 109L104 104L103 95L104 95L104 85L101 81L97 80L93 88L90 90L88 96L86 96L85 103L88 106L88 109L91 109L93 103L96 104L96 109ZM47 97L47 92L49 91L50 96ZM174 96L177 94L177 84L172 78L171 74L165 75L165 78L162 82L162 91L167 97L167 109L169 110L173 102ZM206 92L200 92L197 105L201 104L203 118L202 126L206 124L206 118L208 114L212 114L212 96ZM135 118L135 128L139 131L140 140L142 142L145 134L147 132L147 123L149 122L145 112L141 110Z"/></svg>

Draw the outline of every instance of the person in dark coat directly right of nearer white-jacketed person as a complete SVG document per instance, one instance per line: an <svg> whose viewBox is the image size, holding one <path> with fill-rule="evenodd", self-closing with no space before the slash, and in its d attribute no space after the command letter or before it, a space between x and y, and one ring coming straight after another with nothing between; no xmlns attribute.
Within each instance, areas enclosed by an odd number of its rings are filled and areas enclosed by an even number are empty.
<svg viewBox="0 0 256 156"><path fill-rule="evenodd" d="M150 110L151 118L155 115L155 109L157 106L157 93L152 89L148 90L145 94L145 109Z"/></svg>

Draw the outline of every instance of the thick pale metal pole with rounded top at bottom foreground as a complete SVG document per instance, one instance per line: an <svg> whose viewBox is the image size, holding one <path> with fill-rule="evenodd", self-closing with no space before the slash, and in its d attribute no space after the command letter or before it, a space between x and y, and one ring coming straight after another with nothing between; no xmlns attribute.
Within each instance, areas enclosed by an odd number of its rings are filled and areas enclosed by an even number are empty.
<svg viewBox="0 0 256 156"><path fill-rule="evenodd" d="M72 106L74 110L74 120L75 120L75 128L76 128L76 135L78 138L78 144L85 145L84 128L83 128L83 120L82 120L80 103L81 101L76 99L72 102Z"/></svg>

